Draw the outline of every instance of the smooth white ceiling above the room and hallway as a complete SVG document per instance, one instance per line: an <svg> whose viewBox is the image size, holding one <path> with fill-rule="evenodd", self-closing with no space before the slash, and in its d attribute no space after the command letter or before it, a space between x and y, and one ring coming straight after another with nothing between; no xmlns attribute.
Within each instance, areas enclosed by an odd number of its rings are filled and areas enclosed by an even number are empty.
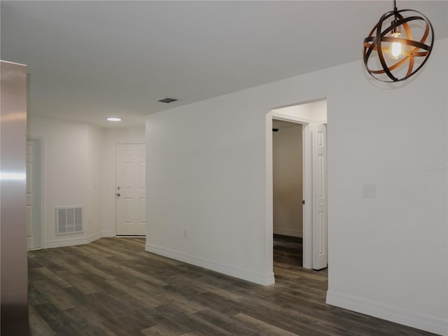
<svg viewBox="0 0 448 336"><path fill-rule="evenodd" d="M29 113L103 127L361 58L393 1L1 1ZM447 1L398 1L447 37ZM430 62L430 61L429 61ZM344 80L344 78L341 78ZM163 104L165 97L179 102ZM111 124L106 116L123 117Z"/></svg>

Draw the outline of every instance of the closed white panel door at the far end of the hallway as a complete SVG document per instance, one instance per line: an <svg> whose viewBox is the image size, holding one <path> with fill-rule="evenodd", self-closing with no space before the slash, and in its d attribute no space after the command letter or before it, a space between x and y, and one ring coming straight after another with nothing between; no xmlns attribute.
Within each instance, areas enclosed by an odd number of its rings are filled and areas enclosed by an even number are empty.
<svg viewBox="0 0 448 336"><path fill-rule="evenodd" d="M145 144L116 147L117 235L146 235Z"/></svg>

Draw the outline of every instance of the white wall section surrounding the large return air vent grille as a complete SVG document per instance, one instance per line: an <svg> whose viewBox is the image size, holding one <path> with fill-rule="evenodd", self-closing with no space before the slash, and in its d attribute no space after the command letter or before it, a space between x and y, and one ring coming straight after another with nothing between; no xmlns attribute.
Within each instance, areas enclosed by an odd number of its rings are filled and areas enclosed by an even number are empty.
<svg viewBox="0 0 448 336"><path fill-rule="evenodd" d="M102 129L85 123L28 118L28 137L43 139L43 247L85 244L102 237ZM84 207L84 232L56 235L56 207Z"/></svg>

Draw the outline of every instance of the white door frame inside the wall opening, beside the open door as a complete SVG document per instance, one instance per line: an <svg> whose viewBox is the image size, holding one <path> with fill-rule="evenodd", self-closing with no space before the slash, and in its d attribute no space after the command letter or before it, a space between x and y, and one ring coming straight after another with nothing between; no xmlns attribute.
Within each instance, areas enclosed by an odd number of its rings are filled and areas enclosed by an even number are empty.
<svg viewBox="0 0 448 336"><path fill-rule="evenodd" d="M268 113L270 115L270 142L271 151L268 160L270 160L272 165L272 120L287 121L288 123L296 123L302 125L302 162L303 162L303 199L305 201L303 207L303 229L302 229L302 267L312 269L313 268L313 225L312 225L312 214L313 214L313 170L312 170L312 151L311 151L311 127L312 120L300 118L298 116L285 116L281 113L271 111ZM272 168L271 168L272 170ZM272 173L272 172L271 172ZM270 174L271 185L272 185L272 174ZM272 187L271 187L271 201ZM270 205L272 207L272 205ZM273 223L272 223L273 225Z"/></svg>

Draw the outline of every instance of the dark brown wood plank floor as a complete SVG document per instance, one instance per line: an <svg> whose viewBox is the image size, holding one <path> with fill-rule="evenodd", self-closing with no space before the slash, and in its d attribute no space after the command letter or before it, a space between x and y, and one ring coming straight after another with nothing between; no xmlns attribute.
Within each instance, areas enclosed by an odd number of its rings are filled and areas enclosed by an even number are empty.
<svg viewBox="0 0 448 336"><path fill-rule="evenodd" d="M29 251L31 335L432 335L325 304L327 271L276 237L259 286L144 251L142 238Z"/></svg>

